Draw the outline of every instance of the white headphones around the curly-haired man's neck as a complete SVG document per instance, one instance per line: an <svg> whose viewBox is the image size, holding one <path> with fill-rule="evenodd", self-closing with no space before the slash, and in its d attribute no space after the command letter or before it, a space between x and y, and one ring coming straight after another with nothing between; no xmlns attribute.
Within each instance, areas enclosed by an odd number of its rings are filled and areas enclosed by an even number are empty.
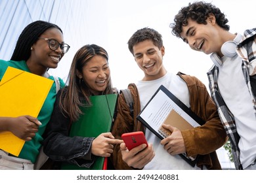
<svg viewBox="0 0 256 183"><path fill-rule="evenodd" d="M236 56L236 46L241 39L242 35L237 34L233 41L224 42L223 46L221 46L221 52L223 53L223 55L228 58ZM221 65L223 65L223 61L216 53L212 53L210 58L216 66L221 67Z"/></svg>

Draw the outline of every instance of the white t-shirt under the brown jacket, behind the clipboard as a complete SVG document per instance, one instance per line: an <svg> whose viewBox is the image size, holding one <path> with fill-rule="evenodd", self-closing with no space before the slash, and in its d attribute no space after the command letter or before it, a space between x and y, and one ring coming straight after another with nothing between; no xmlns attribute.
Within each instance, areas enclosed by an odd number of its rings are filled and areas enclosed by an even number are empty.
<svg viewBox="0 0 256 183"><path fill-rule="evenodd" d="M188 93L188 87L180 76L167 73L165 76L152 81L139 81L137 88L140 96L140 107L141 109L148 103L152 95L163 85L169 91L171 91L177 98L179 98L187 107L190 107L190 99ZM155 156L148 163L144 169L153 170L187 170L187 169L199 169L198 167L192 167L189 165L181 156L172 156L163 146L160 144L160 139L154 135L150 130L146 129L146 140L148 143L153 144Z"/></svg>

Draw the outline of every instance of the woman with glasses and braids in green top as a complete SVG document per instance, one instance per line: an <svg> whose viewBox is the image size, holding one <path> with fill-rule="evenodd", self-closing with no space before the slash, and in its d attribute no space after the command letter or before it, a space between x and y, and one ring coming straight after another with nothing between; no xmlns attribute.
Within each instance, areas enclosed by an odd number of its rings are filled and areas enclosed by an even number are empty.
<svg viewBox="0 0 256 183"><path fill-rule="evenodd" d="M0 60L0 80L9 66L54 80L47 70L56 68L69 48L64 43L60 27L41 20L32 22L20 34L11 60ZM63 88L64 82L59 80L60 88ZM0 116L0 132L11 131L26 141L18 157L0 150L0 169L33 169L43 132L53 112L55 97L54 83L37 118L28 115L16 118Z"/></svg>

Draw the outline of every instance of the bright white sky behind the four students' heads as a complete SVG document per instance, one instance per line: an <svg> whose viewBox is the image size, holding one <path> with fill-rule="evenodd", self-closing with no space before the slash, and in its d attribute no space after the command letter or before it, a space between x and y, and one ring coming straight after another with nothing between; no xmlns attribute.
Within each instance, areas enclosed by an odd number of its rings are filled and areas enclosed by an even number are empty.
<svg viewBox="0 0 256 183"><path fill-rule="evenodd" d="M88 14L85 24L87 33L85 44L98 44L109 54L109 64L113 86L127 88L131 82L141 80L144 74L139 69L133 55L129 52L127 41L143 27L156 29L163 37L165 69L172 73L181 71L198 77L208 88L207 71L213 65L209 56L189 48L181 39L171 33L169 24L181 7L188 5L188 0L95 0L86 8ZM254 0L213 0L228 18L231 33L244 33L245 29L256 25ZM102 3L104 3L102 5ZM65 36L65 41L69 39ZM70 37L72 39L72 37ZM83 39L83 38L81 38ZM73 52L65 55L65 62L60 62L54 75L64 80L68 76L70 63L75 50L83 45L73 45ZM51 71L50 71L51 72Z"/></svg>

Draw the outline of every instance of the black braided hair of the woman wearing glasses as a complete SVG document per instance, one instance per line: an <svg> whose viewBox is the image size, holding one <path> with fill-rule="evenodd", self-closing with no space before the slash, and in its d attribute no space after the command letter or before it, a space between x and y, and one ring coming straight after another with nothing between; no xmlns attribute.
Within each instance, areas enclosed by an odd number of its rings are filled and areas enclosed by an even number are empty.
<svg viewBox="0 0 256 183"><path fill-rule="evenodd" d="M18 41L16 43L11 60L28 60L31 55L31 46L37 41L37 38L40 37L41 34L50 28L57 28L62 33L62 29L60 29L58 25L51 24L42 20L37 20L27 25L20 34L20 37L18 37Z"/></svg>

